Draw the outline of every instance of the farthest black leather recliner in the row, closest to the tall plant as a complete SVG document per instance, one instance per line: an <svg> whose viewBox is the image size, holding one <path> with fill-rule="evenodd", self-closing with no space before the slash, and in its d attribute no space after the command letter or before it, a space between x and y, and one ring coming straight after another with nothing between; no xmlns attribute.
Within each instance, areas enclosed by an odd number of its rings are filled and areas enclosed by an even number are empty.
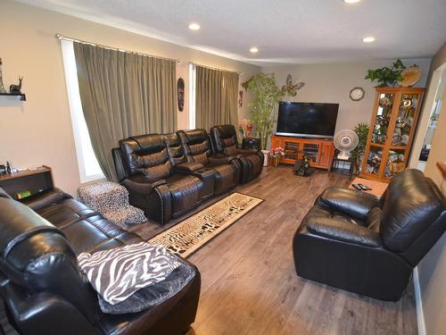
<svg viewBox="0 0 446 335"><path fill-rule="evenodd" d="M214 153L235 156L242 166L240 182L253 180L263 169L263 154L260 150L242 149L238 145L235 127L225 124L211 128L211 141Z"/></svg>

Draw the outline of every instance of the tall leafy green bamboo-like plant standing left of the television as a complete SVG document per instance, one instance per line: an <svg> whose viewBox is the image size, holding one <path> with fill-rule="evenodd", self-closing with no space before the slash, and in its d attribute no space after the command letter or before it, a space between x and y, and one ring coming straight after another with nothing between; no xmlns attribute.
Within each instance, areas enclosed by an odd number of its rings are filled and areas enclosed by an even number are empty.
<svg viewBox="0 0 446 335"><path fill-rule="evenodd" d="M265 150L276 122L277 104L285 96L285 92L277 87L274 73L260 72L248 81L246 87L254 94L254 99L249 104L250 120L260 138L261 148Z"/></svg>

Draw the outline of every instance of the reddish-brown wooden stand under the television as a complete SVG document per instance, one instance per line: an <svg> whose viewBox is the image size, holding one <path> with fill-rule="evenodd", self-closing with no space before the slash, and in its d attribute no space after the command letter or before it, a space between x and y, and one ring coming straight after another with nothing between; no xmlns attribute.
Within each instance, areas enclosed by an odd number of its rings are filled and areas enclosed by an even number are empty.
<svg viewBox="0 0 446 335"><path fill-rule="evenodd" d="M331 138L293 138L287 136L271 136L271 148L283 147L285 156L280 163L293 164L301 159L302 151L311 157L311 166L330 170L335 154L335 145Z"/></svg>

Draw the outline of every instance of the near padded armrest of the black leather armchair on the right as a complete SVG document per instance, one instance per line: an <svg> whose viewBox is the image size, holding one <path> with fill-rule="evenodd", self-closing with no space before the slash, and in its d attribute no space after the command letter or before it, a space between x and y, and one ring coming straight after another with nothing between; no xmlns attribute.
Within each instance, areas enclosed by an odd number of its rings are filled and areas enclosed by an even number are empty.
<svg viewBox="0 0 446 335"><path fill-rule="evenodd" d="M333 217L307 216L302 225L313 235L326 239L349 242L359 246L381 247L381 236L375 231L356 223Z"/></svg>

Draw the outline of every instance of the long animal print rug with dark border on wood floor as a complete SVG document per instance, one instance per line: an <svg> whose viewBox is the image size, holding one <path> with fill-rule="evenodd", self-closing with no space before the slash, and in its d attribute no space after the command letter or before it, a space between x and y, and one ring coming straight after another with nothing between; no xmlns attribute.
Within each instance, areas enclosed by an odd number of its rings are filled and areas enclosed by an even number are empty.
<svg viewBox="0 0 446 335"><path fill-rule="evenodd" d="M161 244L172 254L186 258L262 201L257 197L235 192L161 232L149 242Z"/></svg>

